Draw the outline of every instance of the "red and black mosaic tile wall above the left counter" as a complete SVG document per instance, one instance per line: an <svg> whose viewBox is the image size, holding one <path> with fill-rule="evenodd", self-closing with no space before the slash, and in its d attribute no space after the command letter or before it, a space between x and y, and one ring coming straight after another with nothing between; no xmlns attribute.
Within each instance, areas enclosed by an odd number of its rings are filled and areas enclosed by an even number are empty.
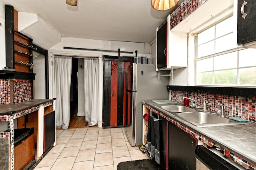
<svg viewBox="0 0 256 170"><path fill-rule="evenodd" d="M25 102L32 99L32 80L2 80L3 98L0 99L0 104L11 103L11 81L14 81L13 103Z"/></svg>

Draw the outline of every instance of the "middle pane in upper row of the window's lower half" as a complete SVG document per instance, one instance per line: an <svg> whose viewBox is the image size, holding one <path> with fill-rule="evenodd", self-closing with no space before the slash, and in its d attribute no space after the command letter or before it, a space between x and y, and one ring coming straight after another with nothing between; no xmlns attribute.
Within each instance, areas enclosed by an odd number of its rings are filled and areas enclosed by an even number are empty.
<svg viewBox="0 0 256 170"><path fill-rule="evenodd" d="M214 70L237 68L237 51L214 57Z"/></svg>

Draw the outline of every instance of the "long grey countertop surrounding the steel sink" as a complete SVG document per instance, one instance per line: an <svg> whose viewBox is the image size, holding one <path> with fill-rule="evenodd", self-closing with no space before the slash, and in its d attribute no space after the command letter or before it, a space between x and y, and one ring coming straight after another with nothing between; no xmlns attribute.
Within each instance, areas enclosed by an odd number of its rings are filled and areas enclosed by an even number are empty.
<svg viewBox="0 0 256 170"><path fill-rule="evenodd" d="M144 102L148 106L160 111L167 117L175 119L186 127L198 132L211 140L213 143L220 145L224 149L227 149L248 162L256 165L256 123L216 127L197 127L174 114L170 114L168 111L155 107L159 106L160 104L156 104L152 101ZM183 104L177 105L183 106Z"/></svg>

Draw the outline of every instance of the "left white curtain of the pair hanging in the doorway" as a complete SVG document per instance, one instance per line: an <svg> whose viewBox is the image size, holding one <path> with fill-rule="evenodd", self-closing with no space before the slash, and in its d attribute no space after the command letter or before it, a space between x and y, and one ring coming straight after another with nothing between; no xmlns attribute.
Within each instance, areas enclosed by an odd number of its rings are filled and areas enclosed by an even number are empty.
<svg viewBox="0 0 256 170"><path fill-rule="evenodd" d="M56 127L68 129L70 121L70 85L72 57L54 56L54 98Z"/></svg>

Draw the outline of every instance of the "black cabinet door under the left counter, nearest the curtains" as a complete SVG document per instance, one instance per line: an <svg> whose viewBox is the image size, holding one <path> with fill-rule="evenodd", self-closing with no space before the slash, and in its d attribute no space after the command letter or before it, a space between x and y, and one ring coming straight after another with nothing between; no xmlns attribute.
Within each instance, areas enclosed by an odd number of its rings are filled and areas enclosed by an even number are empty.
<svg viewBox="0 0 256 170"><path fill-rule="evenodd" d="M44 115L44 152L55 142L55 111Z"/></svg>

